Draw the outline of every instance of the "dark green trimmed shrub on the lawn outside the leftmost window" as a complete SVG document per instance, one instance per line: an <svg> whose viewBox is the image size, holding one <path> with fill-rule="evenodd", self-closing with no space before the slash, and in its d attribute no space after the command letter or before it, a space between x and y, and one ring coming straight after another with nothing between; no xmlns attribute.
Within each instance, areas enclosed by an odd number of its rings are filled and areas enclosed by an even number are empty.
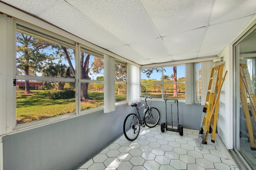
<svg viewBox="0 0 256 170"><path fill-rule="evenodd" d="M49 91L49 99L72 99L76 95L74 90L59 90L59 91Z"/></svg>

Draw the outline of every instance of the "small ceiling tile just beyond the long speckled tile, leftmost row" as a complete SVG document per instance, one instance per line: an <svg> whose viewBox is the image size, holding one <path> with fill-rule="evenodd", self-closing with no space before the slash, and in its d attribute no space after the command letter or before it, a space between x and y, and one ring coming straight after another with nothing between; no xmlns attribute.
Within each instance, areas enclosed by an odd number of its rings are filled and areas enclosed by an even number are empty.
<svg viewBox="0 0 256 170"><path fill-rule="evenodd" d="M139 53L134 51L134 49L132 49L128 45L111 48L111 49L108 49L108 51L111 51L112 53L120 55L121 57L125 57L126 59L128 59L130 61L146 59L145 57L143 57L142 55L140 55Z"/></svg>

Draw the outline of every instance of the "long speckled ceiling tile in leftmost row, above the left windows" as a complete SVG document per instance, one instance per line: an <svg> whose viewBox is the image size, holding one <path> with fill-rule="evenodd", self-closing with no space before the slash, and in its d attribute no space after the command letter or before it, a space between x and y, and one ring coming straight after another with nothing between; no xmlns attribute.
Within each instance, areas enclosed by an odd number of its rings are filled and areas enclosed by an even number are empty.
<svg viewBox="0 0 256 170"><path fill-rule="evenodd" d="M42 13L40 18L106 49L124 45L65 1Z"/></svg>

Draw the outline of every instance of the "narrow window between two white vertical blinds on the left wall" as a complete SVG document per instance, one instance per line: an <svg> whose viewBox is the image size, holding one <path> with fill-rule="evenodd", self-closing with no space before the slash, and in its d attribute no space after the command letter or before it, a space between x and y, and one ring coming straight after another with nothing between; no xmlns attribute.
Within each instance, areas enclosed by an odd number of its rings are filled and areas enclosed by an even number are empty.
<svg viewBox="0 0 256 170"><path fill-rule="evenodd" d="M127 66L119 61L115 62L115 101L127 101Z"/></svg>

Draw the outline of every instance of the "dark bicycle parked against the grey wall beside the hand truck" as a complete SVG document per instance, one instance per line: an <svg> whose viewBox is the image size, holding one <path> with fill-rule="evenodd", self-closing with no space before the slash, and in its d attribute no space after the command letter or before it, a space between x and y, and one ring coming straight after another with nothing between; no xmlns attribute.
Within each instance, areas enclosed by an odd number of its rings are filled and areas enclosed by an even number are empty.
<svg viewBox="0 0 256 170"><path fill-rule="evenodd" d="M155 107L150 107L148 105L147 99L152 99L150 96L140 96L145 98L145 103L141 106L141 102L136 102L132 103L132 107L136 107L135 113L130 113L129 115L126 116L124 119L124 136L126 139L133 141L135 140L139 133L140 133L140 126L142 127L155 127L160 119L160 113L158 109ZM145 106L144 112L143 112L143 117L140 117L139 110Z"/></svg>

